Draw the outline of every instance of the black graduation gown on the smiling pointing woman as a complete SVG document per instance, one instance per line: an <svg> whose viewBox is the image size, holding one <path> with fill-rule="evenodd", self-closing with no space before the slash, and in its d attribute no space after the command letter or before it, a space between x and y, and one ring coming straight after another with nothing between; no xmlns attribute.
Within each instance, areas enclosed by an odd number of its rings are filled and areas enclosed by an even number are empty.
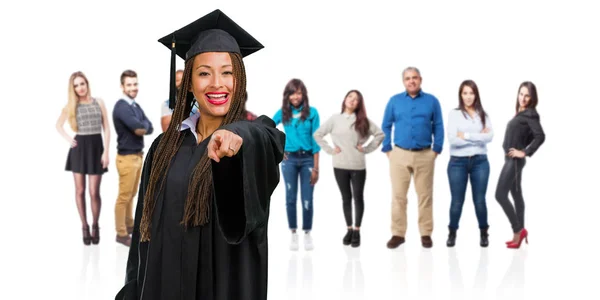
<svg viewBox="0 0 600 300"><path fill-rule="evenodd" d="M179 224L188 180L209 141L197 144L186 129L164 191L156 196L151 240L140 243L143 195L162 134L152 143L142 169L125 286L115 299L267 299L267 222L285 134L266 116L220 129L238 134L243 144L236 156L212 161L209 222L187 231Z"/></svg>

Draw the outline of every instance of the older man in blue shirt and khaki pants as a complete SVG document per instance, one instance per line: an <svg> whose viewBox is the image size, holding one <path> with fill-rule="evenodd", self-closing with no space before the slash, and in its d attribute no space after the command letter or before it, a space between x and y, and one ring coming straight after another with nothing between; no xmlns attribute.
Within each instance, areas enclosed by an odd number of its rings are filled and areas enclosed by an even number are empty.
<svg viewBox="0 0 600 300"><path fill-rule="evenodd" d="M422 78L417 68L406 68L402 72L402 81L406 91L389 100L381 126L385 133L382 151L390 161L393 194L392 238L387 246L393 249L404 243L407 193L414 175L419 198L421 244L430 248L433 246L435 159L442 152L444 144L442 110L435 96L421 90Z"/></svg>

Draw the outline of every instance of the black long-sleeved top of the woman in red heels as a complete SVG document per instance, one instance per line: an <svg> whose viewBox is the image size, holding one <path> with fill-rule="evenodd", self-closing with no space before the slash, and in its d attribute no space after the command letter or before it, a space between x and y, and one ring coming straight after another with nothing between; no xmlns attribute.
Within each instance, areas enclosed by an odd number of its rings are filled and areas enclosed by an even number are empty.
<svg viewBox="0 0 600 300"><path fill-rule="evenodd" d="M527 108L508 122L502 148L505 153L508 153L510 148L515 148L525 151L526 156L532 156L545 139L540 115L535 109Z"/></svg>

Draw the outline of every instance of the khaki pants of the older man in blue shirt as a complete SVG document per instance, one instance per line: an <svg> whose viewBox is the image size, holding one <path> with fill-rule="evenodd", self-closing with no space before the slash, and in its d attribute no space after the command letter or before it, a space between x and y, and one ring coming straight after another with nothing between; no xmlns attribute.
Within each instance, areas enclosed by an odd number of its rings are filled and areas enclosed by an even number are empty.
<svg viewBox="0 0 600 300"><path fill-rule="evenodd" d="M392 179L392 235L406 234L406 204L411 176L419 198L419 231L431 236L433 231L433 173L435 152L432 149L408 151L394 147L390 154Z"/></svg>

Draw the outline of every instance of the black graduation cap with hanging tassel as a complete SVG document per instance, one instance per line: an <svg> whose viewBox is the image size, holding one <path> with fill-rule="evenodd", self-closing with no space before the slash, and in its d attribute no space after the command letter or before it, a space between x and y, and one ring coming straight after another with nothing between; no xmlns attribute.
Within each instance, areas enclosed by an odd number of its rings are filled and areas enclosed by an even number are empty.
<svg viewBox="0 0 600 300"><path fill-rule="evenodd" d="M175 108L175 57L184 60L204 52L233 52L246 57L264 46L219 9L158 40L171 49L169 108Z"/></svg>

